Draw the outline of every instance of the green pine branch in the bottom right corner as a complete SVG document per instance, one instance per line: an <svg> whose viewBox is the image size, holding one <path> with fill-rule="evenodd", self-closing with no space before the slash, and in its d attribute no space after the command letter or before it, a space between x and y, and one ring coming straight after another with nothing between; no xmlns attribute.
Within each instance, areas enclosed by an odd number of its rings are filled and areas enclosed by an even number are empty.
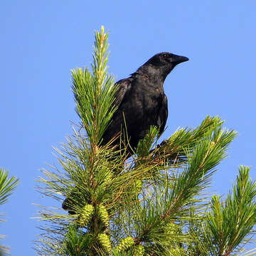
<svg viewBox="0 0 256 256"><path fill-rule="evenodd" d="M215 240L215 255L230 255L255 234L256 183L251 181L249 171L250 168L240 166L236 184L225 203L218 196L212 198L207 225Z"/></svg>

